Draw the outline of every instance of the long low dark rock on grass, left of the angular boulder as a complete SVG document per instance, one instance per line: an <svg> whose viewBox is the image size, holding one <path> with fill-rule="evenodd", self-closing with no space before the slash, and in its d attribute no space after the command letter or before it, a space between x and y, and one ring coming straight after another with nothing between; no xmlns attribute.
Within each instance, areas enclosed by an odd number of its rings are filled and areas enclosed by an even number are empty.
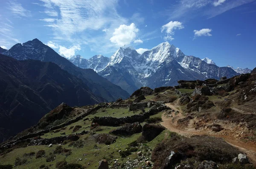
<svg viewBox="0 0 256 169"><path fill-rule="evenodd" d="M118 129L112 130L110 134L112 135L133 135L135 133L140 133L142 131L142 126L139 122L127 124L125 126L119 127Z"/></svg>

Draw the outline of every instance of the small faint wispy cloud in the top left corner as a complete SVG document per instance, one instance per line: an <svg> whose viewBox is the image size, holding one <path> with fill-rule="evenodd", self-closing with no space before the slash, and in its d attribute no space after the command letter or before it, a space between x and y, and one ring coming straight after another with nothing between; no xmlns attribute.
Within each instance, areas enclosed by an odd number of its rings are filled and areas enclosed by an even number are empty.
<svg viewBox="0 0 256 169"><path fill-rule="evenodd" d="M22 5L16 1L10 1L8 9L11 10L15 17L31 17L31 12L24 9Z"/></svg>

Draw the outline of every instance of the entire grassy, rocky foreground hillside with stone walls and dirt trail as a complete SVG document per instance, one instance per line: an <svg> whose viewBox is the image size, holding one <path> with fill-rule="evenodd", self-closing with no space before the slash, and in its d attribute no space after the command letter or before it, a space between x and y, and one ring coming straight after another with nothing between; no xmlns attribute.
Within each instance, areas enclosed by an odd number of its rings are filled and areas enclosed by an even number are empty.
<svg viewBox="0 0 256 169"><path fill-rule="evenodd" d="M255 80L179 81L112 103L62 103L1 144L0 168L254 169Z"/></svg>

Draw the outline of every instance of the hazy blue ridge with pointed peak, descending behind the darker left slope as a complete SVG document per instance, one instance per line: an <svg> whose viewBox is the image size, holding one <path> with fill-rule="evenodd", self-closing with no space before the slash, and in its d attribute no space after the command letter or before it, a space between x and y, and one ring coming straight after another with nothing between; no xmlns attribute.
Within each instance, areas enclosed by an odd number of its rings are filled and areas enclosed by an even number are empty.
<svg viewBox="0 0 256 169"><path fill-rule="evenodd" d="M64 69L70 74L83 80L95 95L99 95L108 101L115 101L120 97L123 99L129 97L129 94L121 89L121 87L116 86L107 79L101 77L92 69L82 69L75 66L38 39L28 41L22 45L17 43L12 46L11 49L4 52L4 54L17 60L32 59L56 63L61 69Z"/></svg>

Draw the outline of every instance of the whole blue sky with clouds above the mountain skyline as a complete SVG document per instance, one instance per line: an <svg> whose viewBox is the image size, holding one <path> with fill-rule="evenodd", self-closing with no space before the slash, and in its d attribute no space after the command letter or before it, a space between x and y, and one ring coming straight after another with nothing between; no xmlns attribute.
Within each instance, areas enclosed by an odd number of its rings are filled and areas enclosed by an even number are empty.
<svg viewBox="0 0 256 169"><path fill-rule="evenodd" d="M1 0L0 46L38 38L59 54L111 56L168 41L218 66L256 67L256 0Z"/></svg>

